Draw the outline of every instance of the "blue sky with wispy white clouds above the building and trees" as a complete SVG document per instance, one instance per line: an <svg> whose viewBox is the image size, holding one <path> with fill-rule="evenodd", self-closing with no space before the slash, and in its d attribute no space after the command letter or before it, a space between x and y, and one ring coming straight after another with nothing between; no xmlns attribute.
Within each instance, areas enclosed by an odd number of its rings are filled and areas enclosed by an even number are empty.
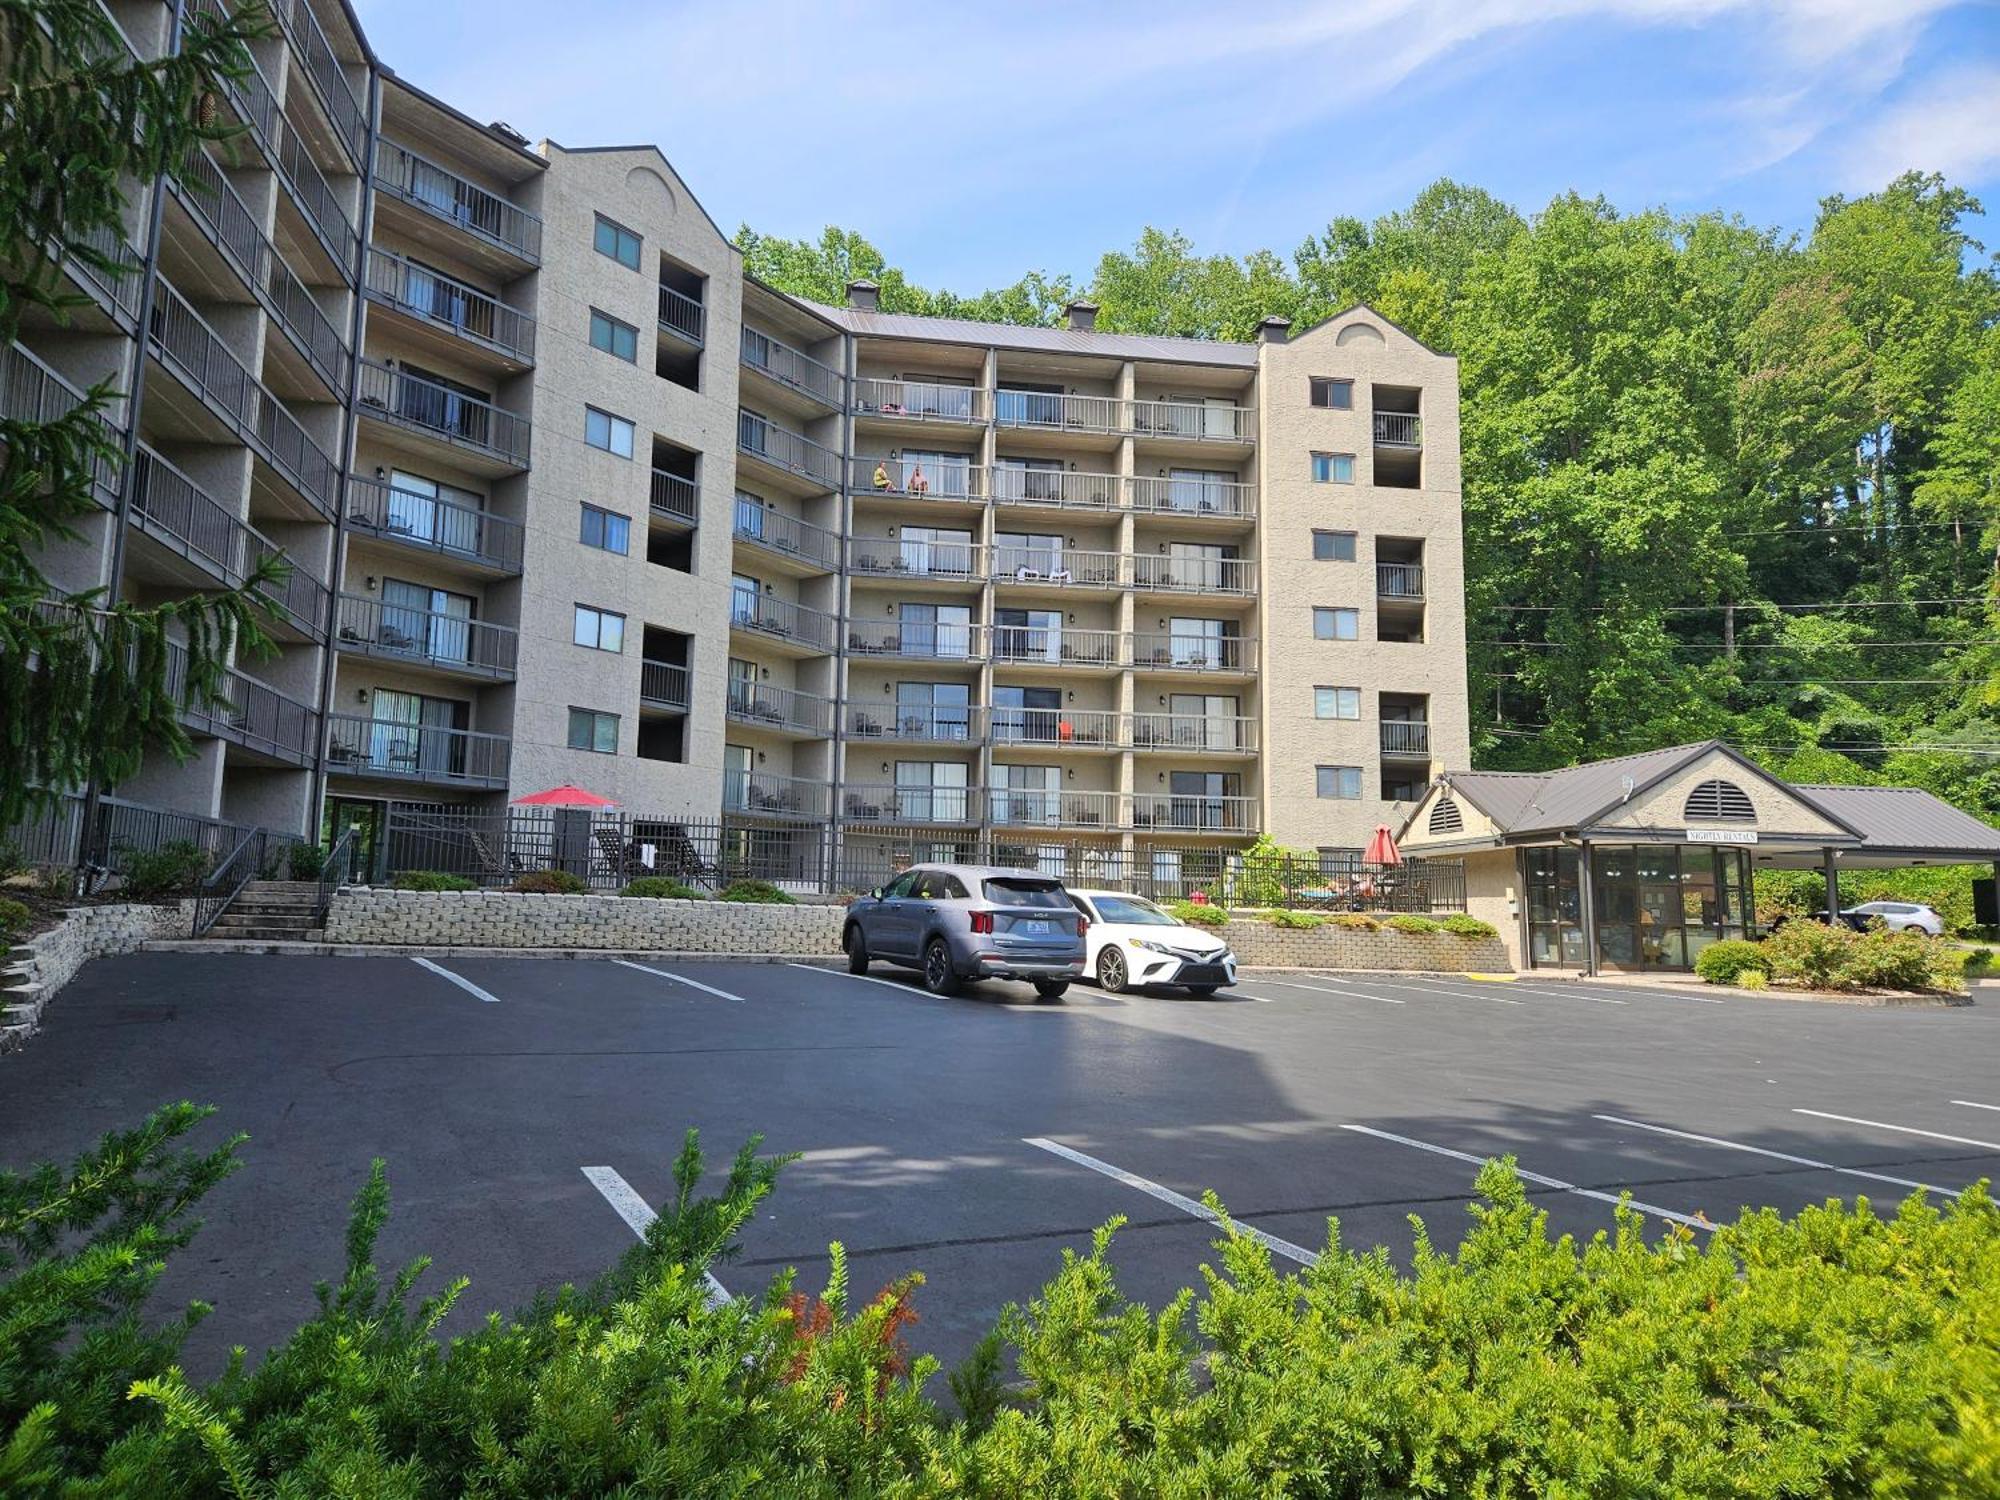
<svg viewBox="0 0 2000 1500"><path fill-rule="evenodd" d="M356 8L480 120L656 142L726 232L842 224L960 292L1086 278L1146 224L1290 254L1438 176L1802 230L1916 166L2000 240L2000 0Z"/></svg>

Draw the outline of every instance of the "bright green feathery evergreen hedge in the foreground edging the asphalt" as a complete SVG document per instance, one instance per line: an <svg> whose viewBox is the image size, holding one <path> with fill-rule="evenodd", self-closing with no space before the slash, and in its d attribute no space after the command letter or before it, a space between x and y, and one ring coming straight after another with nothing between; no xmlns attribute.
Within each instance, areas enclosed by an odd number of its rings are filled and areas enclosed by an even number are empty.
<svg viewBox="0 0 2000 1500"><path fill-rule="evenodd" d="M702 1270L782 1166L756 1142L696 1198L690 1136L610 1272L450 1342L466 1284L418 1302L428 1262L374 1266L376 1162L310 1322L196 1388L176 1362L206 1310L148 1328L140 1302L236 1166L238 1140L184 1150L200 1116L0 1174L0 1492L1974 1500L2000 1474L1984 1184L1650 1244L1620 1208L1576 1242L1488 1162L1456 1252L1420 1234L1410 1274L1338 1226L1278 1274L1224 1220L1200 1290L1158 1312L1118 1286L1114 1220L1002 1314L950 1414L902 1342L918 1276L854 1296L836 1246L820 1296L786 1272L708 1306Z"/></svg>

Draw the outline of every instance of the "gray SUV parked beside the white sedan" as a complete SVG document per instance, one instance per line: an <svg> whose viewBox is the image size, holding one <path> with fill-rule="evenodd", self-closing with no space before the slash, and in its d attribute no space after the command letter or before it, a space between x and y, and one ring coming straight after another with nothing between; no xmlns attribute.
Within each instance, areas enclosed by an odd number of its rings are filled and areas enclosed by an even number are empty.
<svg viewBox="0 0 2000 1500"><path fill-rule="evenodd" d="M984 864L920 864L848 908L848 974L914 968L932 994L964 980L1032 980L1054 1000L1084 972L1084 930L1060 880Z"/></svg>

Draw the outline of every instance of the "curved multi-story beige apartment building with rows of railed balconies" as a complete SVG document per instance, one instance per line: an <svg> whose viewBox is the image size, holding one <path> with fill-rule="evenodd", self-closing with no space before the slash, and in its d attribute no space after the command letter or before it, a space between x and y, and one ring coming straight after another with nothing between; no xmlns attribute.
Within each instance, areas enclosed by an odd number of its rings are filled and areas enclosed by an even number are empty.
<svg viewBox="0 0 2000 1500"><path fill-rule="evenodd" d="M530 146L334 0L274 14L246 134L6 356L10 410L132 392L58 584L294 564L196 758L116 798L380 850L574 782L802 880L1118 878L1358 850L1468 762L1448 356L1368 308L1224 344L794 298L658 148Z"/></svg>

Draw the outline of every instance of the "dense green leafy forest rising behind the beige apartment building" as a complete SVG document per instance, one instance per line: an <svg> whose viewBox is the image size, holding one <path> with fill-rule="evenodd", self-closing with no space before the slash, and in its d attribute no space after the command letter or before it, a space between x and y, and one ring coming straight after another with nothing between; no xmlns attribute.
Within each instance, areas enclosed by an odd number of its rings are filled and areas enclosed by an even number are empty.
<svg viewBox="0 0 2000 1500"><path fill-rule="evenodd" d="M1368 302L1462 380L1472 750L1544 768L1720 736L1808 782L2000 820L2000 276L1960 188L1828 198L1808 236L1440 180L1290 260L1148 228L1088 282L916 286L852 230L744 228L746 268L840 302L1250 338Z"/></svg>

